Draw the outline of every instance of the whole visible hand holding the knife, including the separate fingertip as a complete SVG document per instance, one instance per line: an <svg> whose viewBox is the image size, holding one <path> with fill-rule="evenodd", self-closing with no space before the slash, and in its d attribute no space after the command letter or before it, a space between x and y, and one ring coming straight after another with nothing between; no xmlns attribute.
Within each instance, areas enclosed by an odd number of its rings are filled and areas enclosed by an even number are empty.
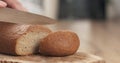
<svg viewBox="0 0 120 63"><path fill-rule="evenodd" d="M10 7L13 9L21 10L21 11L27 11L18 0L3 0L0 1L0 8L4 7Z"/></svg>

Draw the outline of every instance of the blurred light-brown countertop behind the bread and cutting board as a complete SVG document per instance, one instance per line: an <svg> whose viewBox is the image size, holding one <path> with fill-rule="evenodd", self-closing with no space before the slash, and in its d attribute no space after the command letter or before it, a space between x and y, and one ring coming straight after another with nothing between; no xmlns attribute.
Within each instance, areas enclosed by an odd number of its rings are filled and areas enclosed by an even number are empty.
<svg viewBox="0 0 120 63"><path fill-rule="evenodd" d="M80 37L78 51L88 52L105 59L106 63L120 62L120 22L73 20L50 25L54 31L71 30Z"/></svg>

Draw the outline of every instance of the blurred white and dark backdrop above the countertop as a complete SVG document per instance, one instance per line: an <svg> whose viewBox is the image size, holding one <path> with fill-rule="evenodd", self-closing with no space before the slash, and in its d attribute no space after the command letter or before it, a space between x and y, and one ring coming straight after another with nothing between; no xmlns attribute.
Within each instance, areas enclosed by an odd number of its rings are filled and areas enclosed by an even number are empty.
<svg viewBox="0 0 120 63"><path fill-rule="evenodd" d="M110 19L120 16L119 0L19 0L30 12L54 19Z"/></svg>

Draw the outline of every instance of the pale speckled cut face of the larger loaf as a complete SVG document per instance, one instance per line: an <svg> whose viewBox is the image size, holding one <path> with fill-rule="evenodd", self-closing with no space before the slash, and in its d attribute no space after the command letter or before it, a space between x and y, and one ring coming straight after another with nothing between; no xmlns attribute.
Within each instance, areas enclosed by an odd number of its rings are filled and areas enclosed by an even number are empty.
<svg viewBox="0 0 120 63"><path fill-rule="evenodd" d="M17 40L16 54L30 55L38 52L40 39L48 33L45 32L28 32Z"/></svg>

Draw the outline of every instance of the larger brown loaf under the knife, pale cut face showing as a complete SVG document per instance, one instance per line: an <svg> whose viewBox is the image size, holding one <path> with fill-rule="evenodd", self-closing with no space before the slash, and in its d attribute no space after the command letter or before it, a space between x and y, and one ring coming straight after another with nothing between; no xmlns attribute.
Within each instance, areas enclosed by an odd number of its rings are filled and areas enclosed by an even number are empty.
<svg viewBox="0 0 120 63"><path fill-rule="evenodd" d="M51 32L42 25L0 22L0 53L30 55L38 52L39 42Z"/></svg>

